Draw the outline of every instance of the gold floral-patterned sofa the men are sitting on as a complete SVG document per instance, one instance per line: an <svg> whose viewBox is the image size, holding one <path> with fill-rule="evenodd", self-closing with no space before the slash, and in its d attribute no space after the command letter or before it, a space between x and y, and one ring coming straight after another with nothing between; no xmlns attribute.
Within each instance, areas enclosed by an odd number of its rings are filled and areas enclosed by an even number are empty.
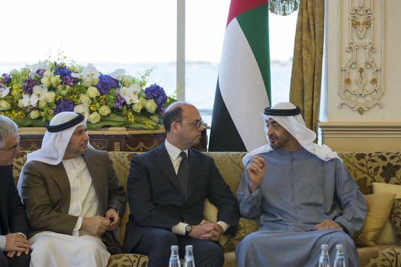
<svg viewBox="0 0 401 267"><path fill-rule="evenodd" d="M242 157L245 153L242 152L205 152L212 156L216 165L219 168L226 183L230 186L234 195L239 186L244 166ZM342 158L343 163L352 178L359 185L360 191L365 194L372 194L374 182L387 183L393 185L401 184L401 152L340 152L338 153ZM26 161L27 151L22 151L16 157L13 164L14 179L18 182L18 177L22 166ZM126 189L127 175L129 173L130 160L135 153L133 152L109 152L110 158L113 160L114 168L121 184ZM392 201L392 200L391 200ZM395 201L394 201L395 203ZM394 207L393 207L394 209ZM394 210L393 210L394 211ZM369 210L368 210L369 212ZM217 209L209 201L205 201L204 217L210 221L216 220ZM120 237L121 243L124 239L125 223L128 221L129 207L125 214L122 215L121 224L119 229L115 232ZM390 213L394 215L394 212ZM401 218L401 212L398 211L398 216ZM383 216L384 217L384 216ZM388 217L388 216L386 216ZM390 216L391 217L391 216ZM387 218L383 218L387 219ZM366 223L365 223L366 224ZM398 225L400 226L400 225ZM400 234L395 235L392 224L390 230L383 233L380 229L379 237L377 239L384 240L380 243L378 241L370 243L369 246L357 247L359 254L360 266L401 266L401 243ZM235 247L244 238L245 235L256 231L258 223L255 220L241 218L239 221L238 230L234 236L223 235L219 242L225 250L226 262L224 266L237 266L235 258ZM399 230L399 229L398 229ZM391 236L390 236L391 235ZM376 238L375 238L376 239ZM385 243L389 242L391 243ZM375 240L373 240L375 241ZM318 257L318 255L315 255ZM147 265L147 256L140 254L118 254L112 255L109 260L108 266L140 266ZM181 262L182 263L182 262Z"/></svg>

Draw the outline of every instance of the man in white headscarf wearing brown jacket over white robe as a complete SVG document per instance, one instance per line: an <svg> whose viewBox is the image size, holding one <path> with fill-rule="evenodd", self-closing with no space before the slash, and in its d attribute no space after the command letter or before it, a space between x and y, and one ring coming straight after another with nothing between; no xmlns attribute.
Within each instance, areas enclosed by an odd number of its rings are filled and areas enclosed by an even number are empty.
<svg viewBox="0 0 401 267"><path fill-rule="evenodd" d="M31 266L106 266L121 244L112 230L125 192L106 151L89 144L82 114L54 116L28 154L19 191L27 207Z"/></svg>

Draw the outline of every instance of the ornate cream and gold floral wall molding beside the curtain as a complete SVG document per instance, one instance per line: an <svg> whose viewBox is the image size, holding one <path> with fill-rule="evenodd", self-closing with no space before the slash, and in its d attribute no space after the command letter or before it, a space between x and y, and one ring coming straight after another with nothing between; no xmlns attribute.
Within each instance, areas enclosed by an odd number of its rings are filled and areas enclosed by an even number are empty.
<svg viewBox="0 0 401 267"><path fill-rule="evenodd" d="M339 66L342 67L338 94L342 100L338 103L338 107L347 105L362 115L364 111L375 105L383 107L380 99L384 94L382 87L384 16L381 14L381 21L374 21L373 10L375 12L378 10L376 14L383 13L384 0L374 1L374 9L373 0L370 0L369 5L366 5L365 0L348 0L348 2L347 45L345 47L339 45L339 55L344 55L345 51L347 55L345 57L348 58L343 60L341 56L339 57L341 58ZM354 6L355 2L357 2L356 6ZM343 16L340 18L343 19ZM380 36L379 41L381 41L378 42L378 46L374 41L378 39L377 36Z"/></svg>

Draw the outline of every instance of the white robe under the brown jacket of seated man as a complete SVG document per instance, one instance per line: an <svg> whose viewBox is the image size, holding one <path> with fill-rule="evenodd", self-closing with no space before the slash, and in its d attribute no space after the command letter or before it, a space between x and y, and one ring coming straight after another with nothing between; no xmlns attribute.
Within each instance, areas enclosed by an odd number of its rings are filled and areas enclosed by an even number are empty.
<svg viewBox="0 0 401 267"><path fill-rule="evenodd" d="M100 236L78 231L82 217L100 214L92 177L82 156L62 161L71 187L68 214L79 216L73 235L43 231L32 236L31 267L106 266L110 253Z"/></svg>

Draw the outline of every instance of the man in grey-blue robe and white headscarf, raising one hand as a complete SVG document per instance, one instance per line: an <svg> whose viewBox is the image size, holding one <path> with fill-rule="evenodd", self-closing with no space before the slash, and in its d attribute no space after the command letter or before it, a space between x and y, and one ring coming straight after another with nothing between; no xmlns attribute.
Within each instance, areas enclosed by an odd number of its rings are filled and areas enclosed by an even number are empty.
<svg viewBox="0 0 401 267"><path fill-rule="evenodd" d="M238 266L317 266L320 245L344 245L345 265L359 266L351 236L366 203L337 153L314 144L299 107L288 102L262 114L268 144L248 153L237 191L241 214L259 230L236 248Z"/></svg>

